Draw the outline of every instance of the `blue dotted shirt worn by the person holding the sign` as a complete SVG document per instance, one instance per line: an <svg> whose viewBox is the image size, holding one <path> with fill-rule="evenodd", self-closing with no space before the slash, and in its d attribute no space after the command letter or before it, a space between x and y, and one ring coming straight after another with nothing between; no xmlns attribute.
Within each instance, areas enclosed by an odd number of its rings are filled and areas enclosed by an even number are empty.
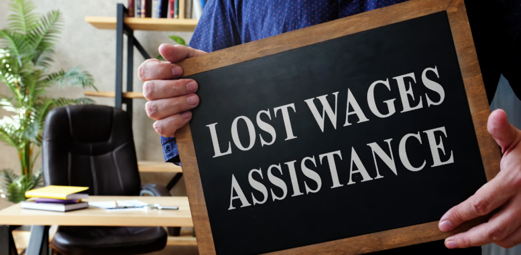
<svg viewBox="0 0 521 255"><path fill-rule="evenodd" d="M405 1L209 0L189 46L214 52ZM519 97L521 0L469 0L465 4L489 102L501 74ZM180 162L175 137L161 137L161 143L165 161Z"/></svg>

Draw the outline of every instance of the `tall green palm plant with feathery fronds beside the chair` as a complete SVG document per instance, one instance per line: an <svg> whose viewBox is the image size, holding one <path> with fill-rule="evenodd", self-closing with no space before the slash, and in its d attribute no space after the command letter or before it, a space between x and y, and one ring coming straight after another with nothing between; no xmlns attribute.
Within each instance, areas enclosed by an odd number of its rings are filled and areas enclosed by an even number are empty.
<svg viewBox="0 0 521 255"><path fill-rule="evenodd" d="M34 9L29 0L10 0L9 24L0 30L0 83L11 92L0 95L0 106L11 112L0 119L0 141L18 150L21 165L19 174L8 169L0 174L0 196L12 202L25 200L25 192L41 184L42 171L33 168L40 155L47 113L60 106L93 103L89 98L46 97L46 88L68 85L96 89L92 76L80 67L48 71L64 22L58 10L40 17Z"/></svg>

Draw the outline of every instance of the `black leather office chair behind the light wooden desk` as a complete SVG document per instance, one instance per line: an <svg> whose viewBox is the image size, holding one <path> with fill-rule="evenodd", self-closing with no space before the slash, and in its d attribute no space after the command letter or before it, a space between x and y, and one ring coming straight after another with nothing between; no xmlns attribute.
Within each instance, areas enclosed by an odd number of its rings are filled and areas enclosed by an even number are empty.
<svg viewBox="0 0 521 255"><path fill-rule="evenodd" d="M141 187L131 121L120 109L56 108L45 120L42 146L46 186L85 186L98 196L139 196L145 188L169 196L164 186ZM51 245L67 255L130 255L162 250L166 241L162 227L59 226Z"/></svg>

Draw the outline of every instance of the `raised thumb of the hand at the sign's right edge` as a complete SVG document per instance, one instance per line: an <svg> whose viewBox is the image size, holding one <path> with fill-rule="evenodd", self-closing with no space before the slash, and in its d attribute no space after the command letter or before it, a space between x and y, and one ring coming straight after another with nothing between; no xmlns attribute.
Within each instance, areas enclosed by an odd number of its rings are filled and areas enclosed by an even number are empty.
<svg viewBox="0 0 521 255"><path fill-rule="evenodd" d="M495 142L501 147L503 154L519 143L521 131L508 123L506 113L502 109L497 109L490 113L487 129L492 137L494 137Z"/></svg>

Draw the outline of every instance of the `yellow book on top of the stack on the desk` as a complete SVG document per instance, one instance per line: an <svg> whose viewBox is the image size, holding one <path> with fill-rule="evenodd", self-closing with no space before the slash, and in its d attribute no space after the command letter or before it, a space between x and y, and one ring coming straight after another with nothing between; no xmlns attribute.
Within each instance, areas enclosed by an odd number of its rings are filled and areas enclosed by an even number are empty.
<svg viewBox="0 0 521 255"><path fill-rule="evenodd" d="M42 198L55 198L63 200L82 199L88 198L88 194L79 194L83 190L87 190L89 187L74 187L74 186L47 186L43 188L32 189L26 192L26 197L42 197Z"/></svg>

